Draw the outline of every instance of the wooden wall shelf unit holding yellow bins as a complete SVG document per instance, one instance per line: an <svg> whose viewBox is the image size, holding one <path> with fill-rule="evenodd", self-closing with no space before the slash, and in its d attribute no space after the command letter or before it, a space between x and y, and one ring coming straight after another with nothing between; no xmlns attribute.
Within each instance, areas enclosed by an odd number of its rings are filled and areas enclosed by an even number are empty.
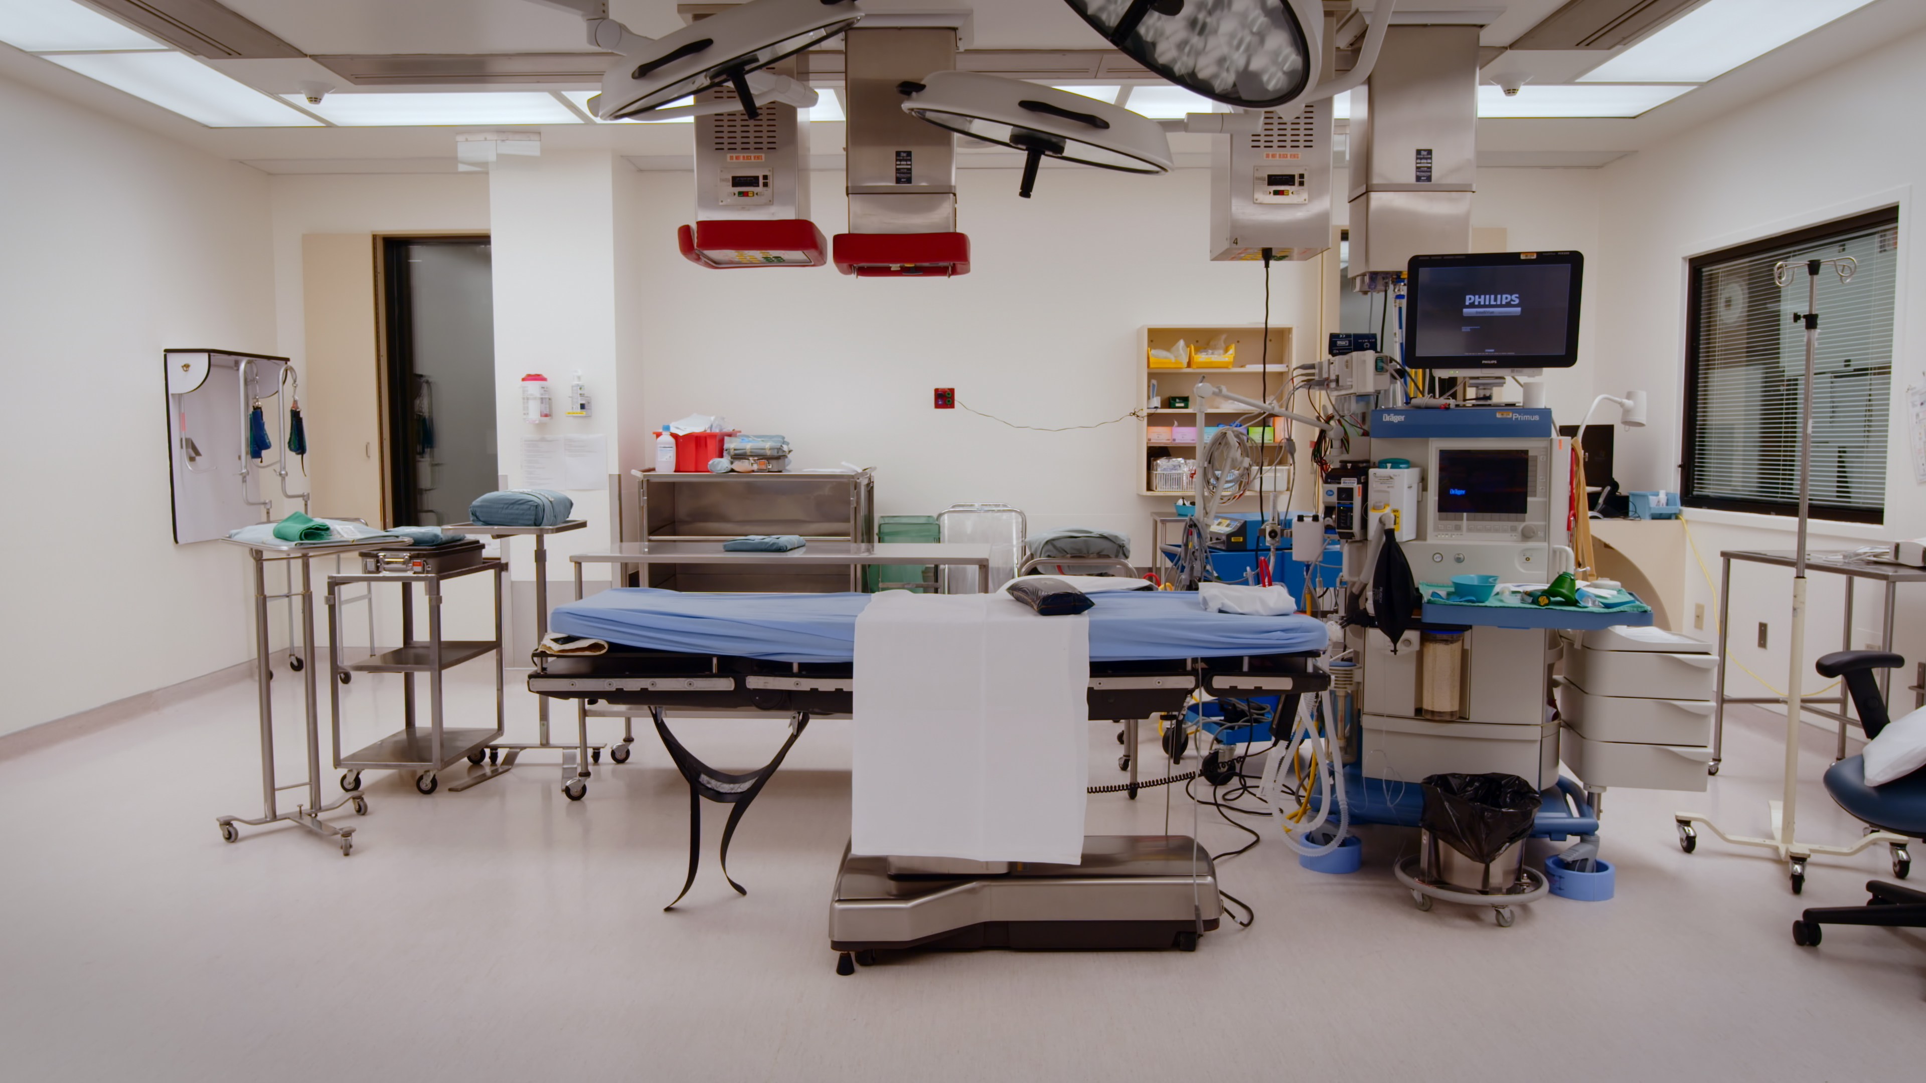
<svg viewBox="0 0 1926 1083"><path fill-rule="evenodd" d="M1150 368L1150 351L1161 349L1171 351L1179 339L1188 345L1208 347L1217 335L1223 335L1225 345L1236 347L1235 366L1231 368ZM1177 428L1196 424L1196 403L1192 401L1188 409L1165 409L1171 395L1190 395L1198 380L1208 380L1211 383L1221 383L1238 395L1250 395L1252 399L1265 399L1275 395L1290 380L1292 364L1292 330L1271 326L1269 341L1265 341L1263 328L1258 324L1163 324L1140 328L1136 335L1136 372L1138 372L1138 401L1150 403L1150 385L1156 383L1158 407L1146 412L1144 420L1138 424L1138 493L1140 497L1183 497L1190 491L1186 486L1183 491L1156 491L1152 489L1152 478L1156 476L1158 459L1192 459L1194 441L1188 439L1150 439L1152 428ZM1231 407L1223 410L1210 410L1210 424L1229 424L1238 418L1250 416L1252 410L1246 407ZM1254 422L1262 424L1262 422ZM1258 445L1254 441L1256 453L1262 457L1265 466L1285 464L1283 447L1283 426L1273 426L1275 441ZM1252 497L1246 497L1252 499Z"/></svg>

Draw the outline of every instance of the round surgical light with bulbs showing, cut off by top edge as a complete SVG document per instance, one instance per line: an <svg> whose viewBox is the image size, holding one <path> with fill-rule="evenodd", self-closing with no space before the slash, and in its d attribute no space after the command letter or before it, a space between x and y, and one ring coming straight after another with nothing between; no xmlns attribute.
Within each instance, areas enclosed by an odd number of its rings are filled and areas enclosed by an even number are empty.
<svg viewBox="0 0 1926 1083"><path fill-rule="evenodd" d="M1358 64L1319 83L1319 0L1065 0L1125 56L1206 98L1269 110L1348 91L1371 73L1396 0L1379 0ZM1134 96L1134 94L1132 94Z"/></svg>

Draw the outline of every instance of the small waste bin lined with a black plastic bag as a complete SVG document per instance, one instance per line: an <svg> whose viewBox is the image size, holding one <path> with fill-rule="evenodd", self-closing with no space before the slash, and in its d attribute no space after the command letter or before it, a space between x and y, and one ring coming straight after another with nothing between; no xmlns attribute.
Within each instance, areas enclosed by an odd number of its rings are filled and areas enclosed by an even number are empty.
<svg viewBox="0 0 1926 1083"><path fill-rule="evenodd" d="M1520 842L1539 815L1539 790L1498 773L1431 775L1419 784L1425 877L1477 892L1512 890L1523 863Z"/></svg>

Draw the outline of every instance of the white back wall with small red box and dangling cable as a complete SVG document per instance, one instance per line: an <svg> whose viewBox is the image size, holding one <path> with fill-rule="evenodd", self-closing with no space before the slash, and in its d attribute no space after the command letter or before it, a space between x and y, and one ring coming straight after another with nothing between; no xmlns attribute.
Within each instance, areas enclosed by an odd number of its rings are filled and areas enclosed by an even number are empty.
<svg viewBox="0 0 1926 1083"><path fill-rule="evenodd" d="M797 466L876 468L882 515L936 515L1003 501L1030 528L1094 526L1134 536L1148 563L1134 418L1094 430L1027 432L969 410L936 410L934 387L1015 424L1059 428L1140 407L1144 324L1258 324L1258 264L1206 258L1210 172L1138 177L1046 170L1034 198L1013 170L959 170L959 227L973 270L946 281L857 279L834 268L715 272L676 252L691 222L690 173L636 173L643 416L690 412L786 434ZM813 218L846 225L840 173L815 173ZM1271 322L1317 333L1317 262L1277 264ZM1183 393L1177 383L1167 393Z"/></svg>

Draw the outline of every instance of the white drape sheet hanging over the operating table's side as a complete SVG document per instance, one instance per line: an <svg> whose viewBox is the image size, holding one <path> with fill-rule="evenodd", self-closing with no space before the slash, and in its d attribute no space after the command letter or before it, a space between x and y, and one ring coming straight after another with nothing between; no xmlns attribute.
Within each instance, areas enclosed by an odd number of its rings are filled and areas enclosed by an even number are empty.
<svg viewBox="0 0 1926 1083"><path fill-rule="evenodd" d="M878 594L855 622L851 852L1080 861L1088 676L1080 615Z"/></svg>

